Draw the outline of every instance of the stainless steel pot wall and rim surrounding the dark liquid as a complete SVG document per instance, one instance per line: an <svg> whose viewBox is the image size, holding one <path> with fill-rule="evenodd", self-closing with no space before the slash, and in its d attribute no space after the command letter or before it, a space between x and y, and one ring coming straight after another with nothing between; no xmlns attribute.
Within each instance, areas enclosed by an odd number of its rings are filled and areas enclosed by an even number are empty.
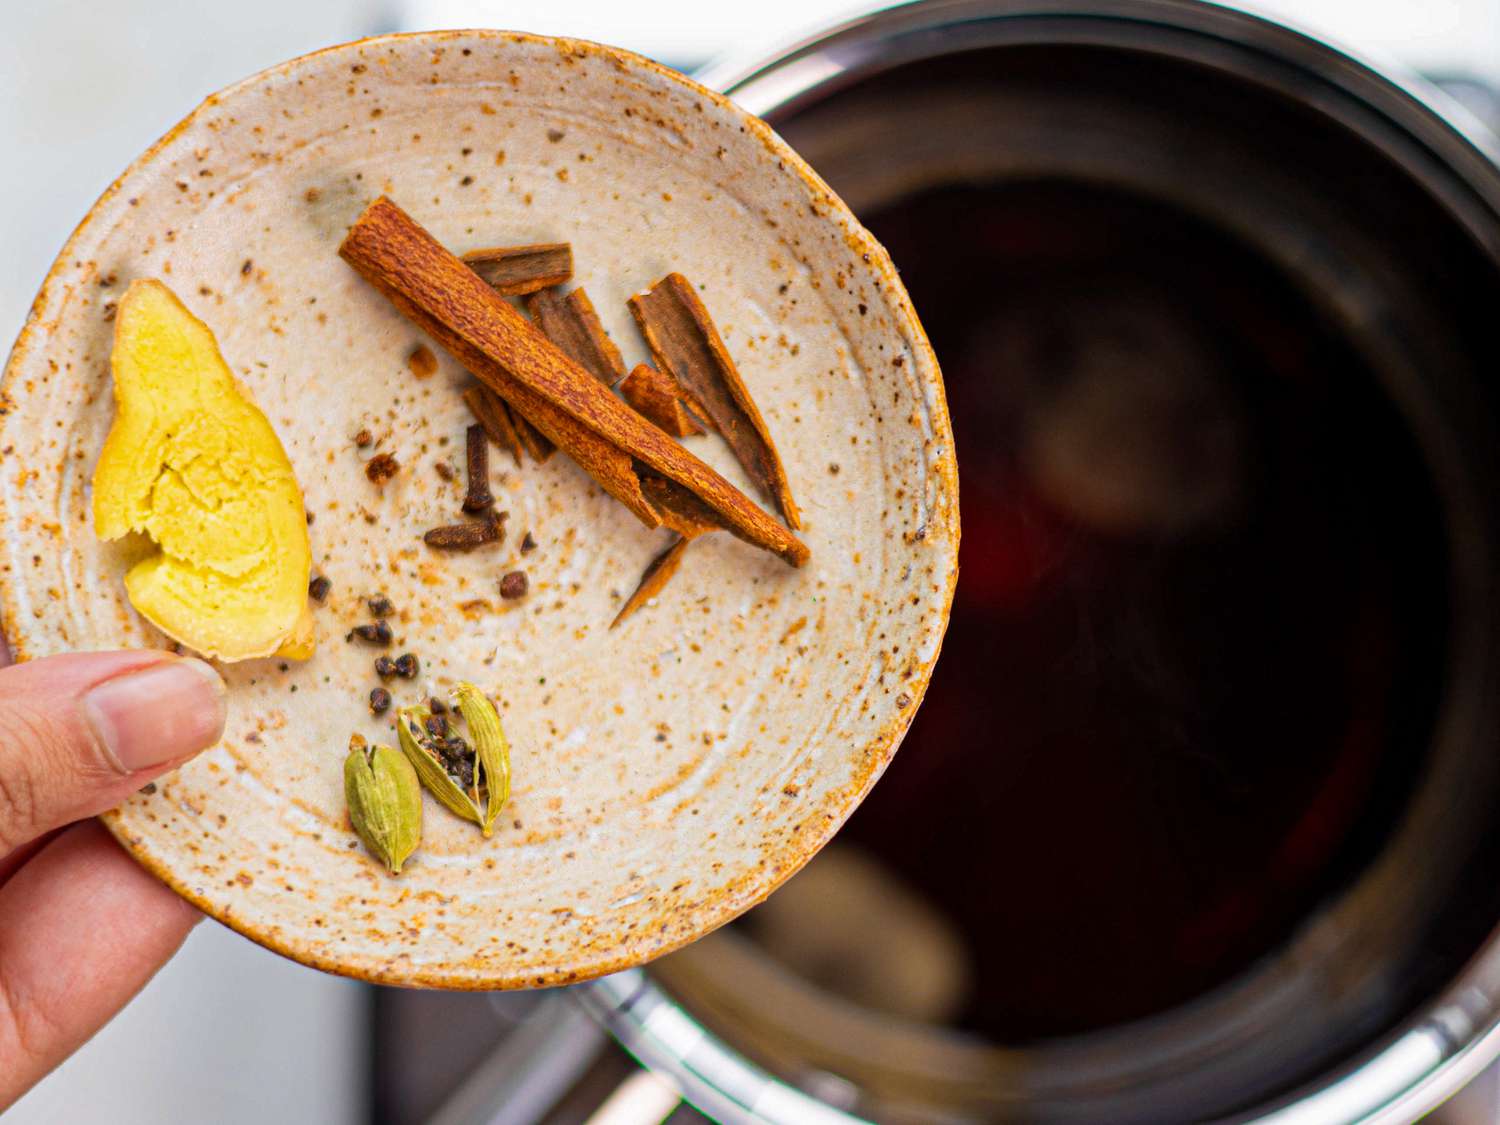
<svg viewBox="0 0 1500 1125"><path fill-rule="evenodd" d="M1272 261L1420 446L1450 572L1443 696L1378 855L1274 956L1172 1011L998 1047L822 996L735 933L585 1004L720 1120L1324 1125L1440 1104L1500 1054L1490 138L1413 80L1191 0L932 0L705 80L860 214L942 183L1107 183Z"/></svg>

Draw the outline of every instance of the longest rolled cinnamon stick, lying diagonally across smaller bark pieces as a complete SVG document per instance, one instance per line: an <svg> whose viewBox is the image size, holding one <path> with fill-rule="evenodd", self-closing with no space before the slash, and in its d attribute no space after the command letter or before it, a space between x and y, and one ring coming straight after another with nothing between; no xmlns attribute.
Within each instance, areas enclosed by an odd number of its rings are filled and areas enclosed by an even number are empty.
<svg viewBox="0 0 1500 1125"><path fill-rule="evenodd" d="M792 566L807 561L804 543L562 354L390 200L364 208L339 254L646 526L662 514L640 490L640 466L690 490L740 538Z"/></svg>

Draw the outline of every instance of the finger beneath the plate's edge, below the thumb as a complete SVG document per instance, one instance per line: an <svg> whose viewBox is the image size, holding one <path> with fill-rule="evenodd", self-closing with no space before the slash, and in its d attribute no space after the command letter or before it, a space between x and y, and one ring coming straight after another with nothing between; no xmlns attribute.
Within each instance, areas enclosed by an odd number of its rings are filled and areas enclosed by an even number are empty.
<svg viewBox="0 0 1500 1125"><path fill-rule="evenodd" d="M98 820L0 886L0 1113L123 1008L200 918Z"/></svg>

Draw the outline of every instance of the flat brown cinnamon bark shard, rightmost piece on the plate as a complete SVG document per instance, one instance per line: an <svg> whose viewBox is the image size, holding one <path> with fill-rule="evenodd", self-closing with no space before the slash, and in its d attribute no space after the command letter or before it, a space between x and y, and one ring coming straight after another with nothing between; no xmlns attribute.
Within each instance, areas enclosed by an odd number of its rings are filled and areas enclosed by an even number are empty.
<svg viewBox="0 0 1500 1125"><path fill-rule="evenodd" d="M678 381L693 410L723 435L746 472L776 501L788 526L800 528L801 514L771 430L687 278L669 273L632 297L630 312L657 366Z"/></svg>

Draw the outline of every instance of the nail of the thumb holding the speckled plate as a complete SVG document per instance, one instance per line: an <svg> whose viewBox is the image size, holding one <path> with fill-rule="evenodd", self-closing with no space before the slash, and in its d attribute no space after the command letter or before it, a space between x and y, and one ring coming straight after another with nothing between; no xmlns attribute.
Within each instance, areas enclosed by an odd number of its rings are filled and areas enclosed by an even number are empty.
<svg viewBox="0 0 1500 1125"><path fill-rule="evenodd" d="M201 660L164 660L88 690L84 714L124 772L198 753L224 734L224 681Z"/></svg>

